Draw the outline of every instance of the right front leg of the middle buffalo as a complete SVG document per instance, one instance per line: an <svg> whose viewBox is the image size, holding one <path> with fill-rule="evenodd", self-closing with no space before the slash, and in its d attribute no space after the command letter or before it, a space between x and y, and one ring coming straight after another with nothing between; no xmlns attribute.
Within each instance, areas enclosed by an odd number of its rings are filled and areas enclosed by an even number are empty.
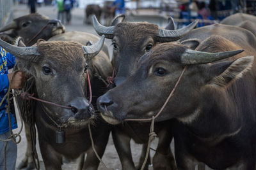
<svg viewBox="0 0 256 170"><path fill-rule="evenodd" d="M168 131L166 131L166 129L163 129L159 132L158 137L159 141L157 150L153 157L154 169L176 170L177 166L170 148L172 136L168 133Z"/></svg>

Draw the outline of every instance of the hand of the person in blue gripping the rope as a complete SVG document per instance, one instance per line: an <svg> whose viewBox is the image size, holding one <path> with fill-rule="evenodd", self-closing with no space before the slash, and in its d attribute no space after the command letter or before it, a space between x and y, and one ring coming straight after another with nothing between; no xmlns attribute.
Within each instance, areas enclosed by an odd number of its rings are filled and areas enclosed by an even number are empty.
<svg viewBox="0 0 256 170"><path fill-rule="evenodd" d="M14 73L7 74L8 80L10 82ZM24 85L24 82L27 80L27 76L22 71L18 71L12 78L12 82L10 83L11 89L21 89Z"/></svg>

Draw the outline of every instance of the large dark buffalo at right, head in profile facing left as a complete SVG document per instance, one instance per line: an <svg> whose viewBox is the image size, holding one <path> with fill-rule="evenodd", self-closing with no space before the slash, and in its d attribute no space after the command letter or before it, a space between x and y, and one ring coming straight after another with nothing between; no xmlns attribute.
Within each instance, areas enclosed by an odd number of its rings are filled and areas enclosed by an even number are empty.
<svg viewBox="0 0 256 170"><path fill-rule="evenodd" d="M155 120L172 120L178 169L195 169L195 162L212 169L239 165L256 169L256 65L252 56L234 60L242 51L207 53L173 43L158 45L141 57L134 74L99 97L97 106L115 122L150 118L161 109L186 66Z"/></svg>

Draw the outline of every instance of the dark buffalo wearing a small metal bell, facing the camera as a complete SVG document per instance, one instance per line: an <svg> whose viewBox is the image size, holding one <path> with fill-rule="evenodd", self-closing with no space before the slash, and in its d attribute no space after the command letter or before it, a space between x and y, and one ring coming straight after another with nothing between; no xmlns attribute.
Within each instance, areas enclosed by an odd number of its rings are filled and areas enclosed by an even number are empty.
<svg viewBox="0 0 256 170"><path fill-rule="evenodd" d="M3 48L15 55L19 69L35 78L36 97L72 107L70 110L45 103L35 104L33 114L46 169L61 169L62 157L76 159L84 152L87 157L83 169L97 169L99 166L99 160L92 150L88 123L93 121L95 148L102 157L110 128L100 118L94 118L92 104L106 87L95 73L106 78L113 69L106 55L97 55L103 44L103 37L92 46L72 41L39 40L37 46L22 48L0 41ZM86 99L88 77L85 71L90 74L92 83L92 104ZM56 143L59 125L65 132L64 143Z"/></svg>

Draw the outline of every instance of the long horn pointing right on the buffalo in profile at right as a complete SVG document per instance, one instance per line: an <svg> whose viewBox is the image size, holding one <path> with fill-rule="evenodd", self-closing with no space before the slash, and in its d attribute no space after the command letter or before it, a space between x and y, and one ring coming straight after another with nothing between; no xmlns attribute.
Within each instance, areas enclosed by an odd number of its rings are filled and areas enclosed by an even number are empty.
<svg viewBox="0 0 256 170"><path fill-rule="evenodd" d="M214 62L221 59L226 59L243 52L244 50L235 50L229 52L198 52L194 50L187 49L180 57L180 62L182 64L206 64L209 62Z"/></svg>

